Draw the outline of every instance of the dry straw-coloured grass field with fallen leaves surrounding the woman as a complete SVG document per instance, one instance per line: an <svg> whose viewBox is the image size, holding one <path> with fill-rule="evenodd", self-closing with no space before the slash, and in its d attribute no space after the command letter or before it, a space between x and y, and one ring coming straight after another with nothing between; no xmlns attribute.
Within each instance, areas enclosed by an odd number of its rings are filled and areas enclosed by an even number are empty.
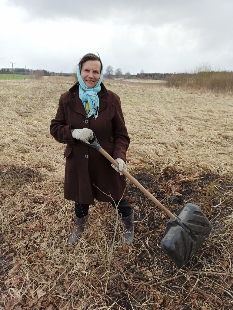
<svg viewBox="0 0 233 310"><path fill-rule="evenodd" d="M129 184L135 220L149 232L136 223L133 244L121 245L115 211L96 202L85 238L68 247L65 146L49 125L73 83L2 81L0 309L232 309L232 96L112 83L131 138L128 171L170 211L198 204L210 237L177 269L159 247L166 215Z"/></svg>

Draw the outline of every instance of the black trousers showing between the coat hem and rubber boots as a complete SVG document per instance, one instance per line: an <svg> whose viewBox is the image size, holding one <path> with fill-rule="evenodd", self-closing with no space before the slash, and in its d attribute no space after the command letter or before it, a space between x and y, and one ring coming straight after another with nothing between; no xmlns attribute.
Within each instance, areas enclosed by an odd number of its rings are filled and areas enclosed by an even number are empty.
<svg viewBox="0 0 233 310"><path fill-rule="evenodd" d="M119 200L115 201L115 204L117 205L118 202L119 202ZM112 205L115 207L113 202L112 202ZM132 208L128 204L128 201L125 198L122 198L121 201L119 202L118 207L117 207L118 214L120 216L127 217L127 216L130 215L131 209ZM74 204L74 212L75 212L75 215L77 217L86 216L88 214L88 210L89 210L89 205L80 205L80 203L75 202L75 204Z"/></svg>

